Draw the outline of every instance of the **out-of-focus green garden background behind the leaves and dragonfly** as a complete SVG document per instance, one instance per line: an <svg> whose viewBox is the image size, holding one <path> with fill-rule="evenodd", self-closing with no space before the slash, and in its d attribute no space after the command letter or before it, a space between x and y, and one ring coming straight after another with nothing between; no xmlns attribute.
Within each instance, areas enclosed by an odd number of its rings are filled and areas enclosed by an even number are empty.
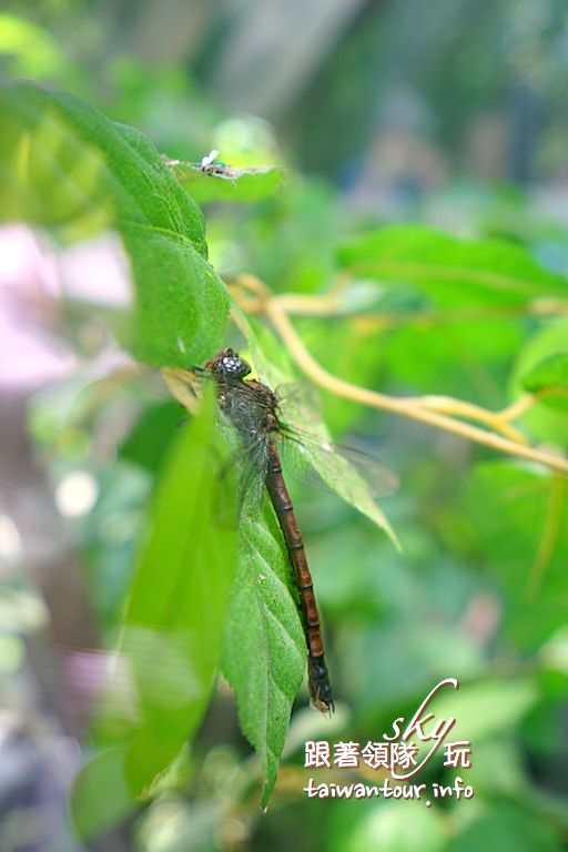
<svg viewBox="0 0 568 852"><path fill-rule="evenodd" d="M393 222L498 236L550 271L568 268L564 0L8 1L0 69L91 101L171 158L217 149L235 166L282 165L286 183L272 197L205 209L221 273L322 292L339 240ZM524 480L491 466L491 454L333 398L334 434L367 436L398 473L384 508L405 548L396 554L337 500L298 493L335 721L306 711L304 691L262 814L222 682L175 778L104 836L77 840L70 789L99 744L90 707L180 415L120 372L128 359L101 318L124 298L111 236L61 246L13 223L0 229L0 257L2 852L568 848L568 632L565 610L542 602L567 598L566 513L554 570L535 580L546 494L513 510ZM408 306L404 294L386 304ZM471 335L466 325L385 334L349 321L346 336L345 322L297 323L345 378L491 408L515 392L528 341L546 354L567 339L561 322L509 317ZM566 446L565 415L529 424L532 436ZM379 739L454 676L465 686L452 712L474 743L471 802L306 800L304 740ZM446 778L440 764L429 773Z"/></svg>

